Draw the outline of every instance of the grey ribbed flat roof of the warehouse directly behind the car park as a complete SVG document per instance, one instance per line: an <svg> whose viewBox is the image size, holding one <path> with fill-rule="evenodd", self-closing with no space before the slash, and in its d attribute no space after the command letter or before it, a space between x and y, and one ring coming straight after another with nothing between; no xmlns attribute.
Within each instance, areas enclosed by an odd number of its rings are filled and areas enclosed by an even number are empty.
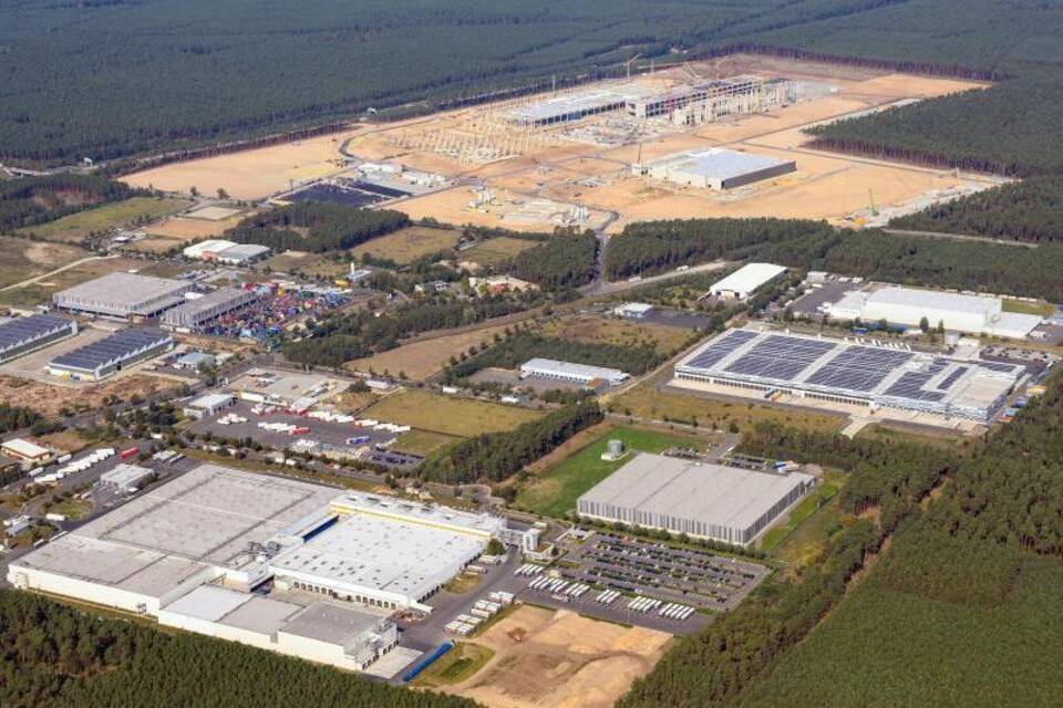
<svg viewBox="0 0 1063 708"><path fill-rule="evenodd" d="M762 472L640 452L579 500L746 529L812 481L802 472Z"/></svg>

